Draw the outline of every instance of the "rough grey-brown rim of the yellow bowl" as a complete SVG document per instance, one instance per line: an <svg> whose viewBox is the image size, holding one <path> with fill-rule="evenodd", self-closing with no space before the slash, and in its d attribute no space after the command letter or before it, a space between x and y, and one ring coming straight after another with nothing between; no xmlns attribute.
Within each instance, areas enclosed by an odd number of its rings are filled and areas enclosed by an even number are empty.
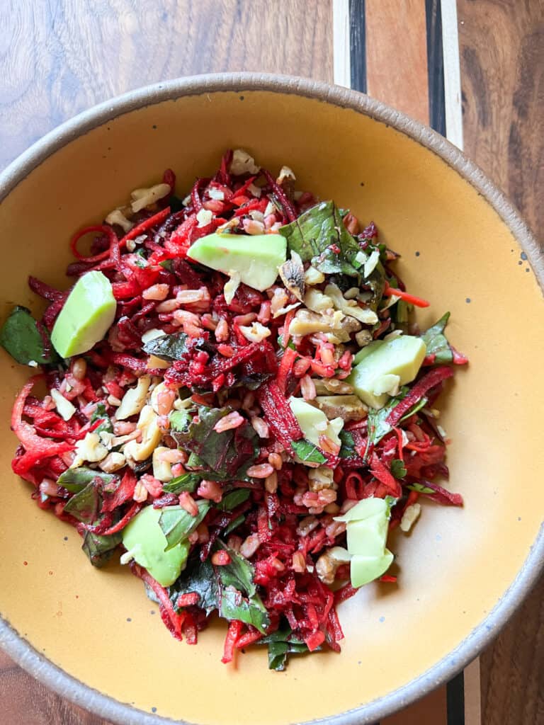
<svg viewBox="0 0 544 725"><path fill-rule="evenodd" d="M279 94L292 94L316 99L345 109L352 109L362 115L373 118L379 123L390 125L395 130L413 139L416 143L437 154L453 170L473 186L479 195L498 213L508 226L535 273L540 288L544 290L544 249L529 231L519 212L506 196L499 191L482 172L456 146L431 128L392 109L381 101L371 99L358 91L341 86L333 86L318 80L298 78L290 75L276 75L257 72L227 72L207 75L193 75L186 78L168 80L151 86L129 91L110 101L91 107L73 117L59 127L51 130L43 138L23 152L0 174L0 202L36 167L45 162L52 154L71 141L103 125L116 117L175 100L183 96L195 96L221 91L271 91ZM434 663L426 672L404 684L393 692L345 711L338 715L308 721L308 725L366 725L388 716L414 700L423 697L432 689L448 682L458 674L471 660L477 657L496 637L500 629L519 608L524 598L540 576L544 568L544 523L540 527L535 542L529 550L516 579L500 597L495 607L462 642L442 660ZM127 703L120 703L110 695L84 684L30 645L8 621L0 617L0 647L28 671L39 682L66 697L75 705L96 713L109 721L120 725L167 725L186 721L174 721L158 714L147 713Z"/></svg>

